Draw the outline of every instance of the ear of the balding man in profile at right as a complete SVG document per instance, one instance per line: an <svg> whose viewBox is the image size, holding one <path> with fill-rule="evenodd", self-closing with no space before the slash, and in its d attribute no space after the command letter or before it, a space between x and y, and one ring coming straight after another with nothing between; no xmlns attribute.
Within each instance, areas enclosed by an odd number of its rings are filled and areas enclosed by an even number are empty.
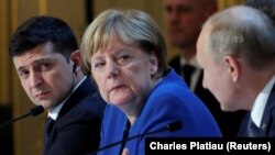
<svg viewBox="0 0 275 155"><path fill-rule="evenodd" d="M241 64L239 59L237 57L228 55L228 56L224 56L222 60L232 80L234 82L238 81L241 76Z"/></svg>

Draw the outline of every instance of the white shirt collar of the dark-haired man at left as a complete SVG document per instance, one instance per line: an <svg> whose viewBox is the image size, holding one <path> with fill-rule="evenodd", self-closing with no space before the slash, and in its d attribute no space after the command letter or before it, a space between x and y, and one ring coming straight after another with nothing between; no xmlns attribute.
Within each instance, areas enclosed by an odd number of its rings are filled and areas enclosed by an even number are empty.
<svg viewBox="0 0 275 155"><path fill-rule="evenodd" d="M84 80L87 77L85 76L81 81L79 81L76 87L73 89L72 93L75 92L75 90L84 82ZM54 109L52 109L51 111L48 111L48 117L51 117L53 120L56 120L58 117L59 111L62 110L64 103L68 100L68 98L72 96L72 93L69 96L67 96L67 98L65 100L62 101L62 103L59 103L57 107L55 107Z"/></svg>

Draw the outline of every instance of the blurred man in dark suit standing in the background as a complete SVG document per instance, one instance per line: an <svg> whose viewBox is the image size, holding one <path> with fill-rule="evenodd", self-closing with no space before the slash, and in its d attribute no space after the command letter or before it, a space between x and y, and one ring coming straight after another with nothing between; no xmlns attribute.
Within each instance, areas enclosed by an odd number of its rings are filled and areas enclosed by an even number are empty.
<svg viewBox="0 0 275 155"><path fill-rule="evenodd" d="M222 112L211 92L202 87L204 73L196 59L196 43L204 22L217 12L216 0L167 0L167 27L170 43L180 49L169 65L205 102L218 122L223 136L235 136L243 111Z"/></svg>

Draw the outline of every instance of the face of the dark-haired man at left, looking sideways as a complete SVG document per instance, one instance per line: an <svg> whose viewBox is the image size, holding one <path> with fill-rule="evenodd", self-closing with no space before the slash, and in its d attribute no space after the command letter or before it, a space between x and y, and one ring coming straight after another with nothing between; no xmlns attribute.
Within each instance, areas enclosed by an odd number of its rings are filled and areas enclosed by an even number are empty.
<svg viewBox="0 0 275 155"><path fill-rule="evenodd" d="M61 103L73 88L72 65L53 52L52 43L14 56L13 64L29 98L47 110Z"/></svg>

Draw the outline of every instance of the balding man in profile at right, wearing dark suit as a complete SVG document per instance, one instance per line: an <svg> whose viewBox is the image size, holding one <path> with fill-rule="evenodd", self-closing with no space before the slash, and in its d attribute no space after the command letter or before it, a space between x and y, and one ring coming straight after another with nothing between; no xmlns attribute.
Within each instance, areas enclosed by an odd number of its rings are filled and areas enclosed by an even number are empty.
<svg viewBox="0 0 275 155"><path fill-rule="evenodd" d="M272 19L244 5L212 15L199 35L204 86L223 111L249 111L238 136L275 136L274 41Z"/></svg>

